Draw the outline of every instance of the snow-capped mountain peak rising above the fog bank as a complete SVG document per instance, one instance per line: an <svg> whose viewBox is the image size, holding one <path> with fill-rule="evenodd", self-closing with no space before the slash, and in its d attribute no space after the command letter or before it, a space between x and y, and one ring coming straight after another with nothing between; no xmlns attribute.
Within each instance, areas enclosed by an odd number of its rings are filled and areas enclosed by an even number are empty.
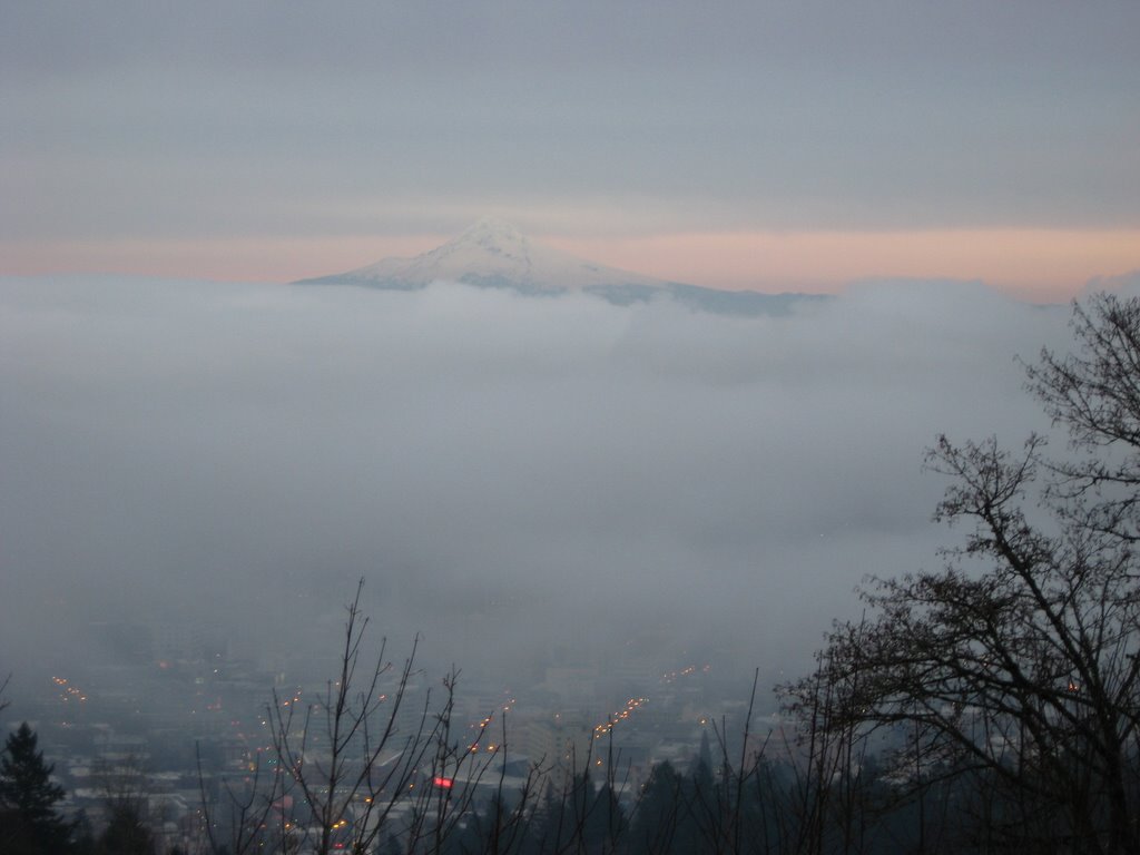
<svg viewBox="0 0 1140 855"><path fill-rule="evenodd" d="M433 282L510 288L524 294L585 291L621 306L671 298L706 311L741 315L783 315L793 303L815 299L807 294L716 291L656 279L545 246L510 223L494 219L479 220L458 237L415 258L384 259L356 270L294 284L416 291Z"/></svg>

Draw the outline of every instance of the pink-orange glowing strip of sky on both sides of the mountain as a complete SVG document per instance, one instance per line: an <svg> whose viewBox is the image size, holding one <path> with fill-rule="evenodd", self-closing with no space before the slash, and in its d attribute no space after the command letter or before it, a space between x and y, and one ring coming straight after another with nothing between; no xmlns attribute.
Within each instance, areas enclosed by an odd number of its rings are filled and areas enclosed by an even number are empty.
<svg viewBox="0 0 1140 855"><path fill-rule="evenodd" d="M89 241L0 245L0 275L108 272L292 282L433 249L448 235L376 238ZM1096 276L1140 270L1140 229L740 231L635 238L537 236L611 267L708 287L838 292L869 278L980 279L1025 299L1067 300Z"/></svg>

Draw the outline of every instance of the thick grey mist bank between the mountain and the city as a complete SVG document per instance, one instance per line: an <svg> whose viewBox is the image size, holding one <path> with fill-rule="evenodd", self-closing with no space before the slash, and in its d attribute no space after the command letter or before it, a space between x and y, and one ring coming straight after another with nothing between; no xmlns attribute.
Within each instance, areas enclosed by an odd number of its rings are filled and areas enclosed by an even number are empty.
<svg viewBox="0 0 1140 855"><path fill-rule="evenodd" d="M0 669L91 626L209 626L287 667L356 580L376 637L506 681L808 667L869 573L938 565L938 433L1048 429L1015 357L1068 310L865 283L790 317L422 292L0 282ZM642 641L638 641L642 640Z"/></svg>

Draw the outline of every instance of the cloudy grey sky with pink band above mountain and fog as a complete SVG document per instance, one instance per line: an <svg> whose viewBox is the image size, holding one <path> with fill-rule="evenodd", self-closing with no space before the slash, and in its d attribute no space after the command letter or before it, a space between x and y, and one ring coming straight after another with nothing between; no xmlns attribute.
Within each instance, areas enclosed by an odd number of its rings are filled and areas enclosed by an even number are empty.
<svg viewBox="0 0 1140 855"><path fill-rule="evenodd" d="M698 285L1140 269L1133 0L0 6L0 275L288 282L482 215Z"/></svg>

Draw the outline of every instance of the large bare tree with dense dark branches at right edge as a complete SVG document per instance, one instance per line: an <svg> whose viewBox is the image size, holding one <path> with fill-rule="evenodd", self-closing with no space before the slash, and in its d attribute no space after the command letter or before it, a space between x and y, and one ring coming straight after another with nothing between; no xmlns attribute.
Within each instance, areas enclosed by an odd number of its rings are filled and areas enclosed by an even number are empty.
<svg viewBox="0 0 1140 855"><path fill-rule="evenodd" d="M870 617L820 656L829 703L803 709L825 731L905 734L917 787L974 776L999 806L993 846L1135 853L1140 302L1093 298L1073 329L1072 355L1028 368L1068 456L1037 435L1018 451L940 438L936 520L964 523L963 544L940 571L871 580Z"/></svg>

